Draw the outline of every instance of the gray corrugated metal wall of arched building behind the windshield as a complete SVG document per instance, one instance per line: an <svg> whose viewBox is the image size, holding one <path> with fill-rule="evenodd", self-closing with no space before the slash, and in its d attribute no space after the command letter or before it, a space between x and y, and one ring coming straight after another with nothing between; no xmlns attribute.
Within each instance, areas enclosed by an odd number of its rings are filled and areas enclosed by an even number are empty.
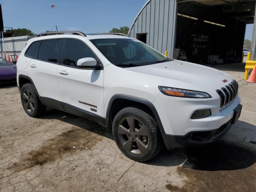
<svg viewBox="0 0 256 192"><path fill-rule="evenodd" d="M176 0L148 0L132 23L128 35L147 33L147 44L162 54L173 56L177 14Z"/></svg>

